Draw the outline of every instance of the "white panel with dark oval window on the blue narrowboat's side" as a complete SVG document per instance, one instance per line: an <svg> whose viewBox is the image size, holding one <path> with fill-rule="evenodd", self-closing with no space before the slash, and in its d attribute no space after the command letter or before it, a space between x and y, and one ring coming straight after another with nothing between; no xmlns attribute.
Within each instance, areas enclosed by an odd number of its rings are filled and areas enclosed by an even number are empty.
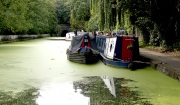
<svg viewBox="0 0 180 105"><path fill-rule="evenodd" d="M107 38L106 39L106 57L109 59L113 59L114 58L114 51L115 51L115 47L116 47L116 40L117 37L114 38Z"/></svg>

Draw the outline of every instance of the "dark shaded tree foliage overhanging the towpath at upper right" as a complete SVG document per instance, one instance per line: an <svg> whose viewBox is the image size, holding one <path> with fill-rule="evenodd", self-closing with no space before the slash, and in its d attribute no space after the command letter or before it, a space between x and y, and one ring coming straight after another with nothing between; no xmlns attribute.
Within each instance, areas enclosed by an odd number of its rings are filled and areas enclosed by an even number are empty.
<svg viewBox="0 0 180 105"><path fill-rule="evenodd" d="M127 0L130 20L144 35L146 44L153 34L167 48L179 42L179 0ZM153 36L154 36L153 35Z"/></svg>

